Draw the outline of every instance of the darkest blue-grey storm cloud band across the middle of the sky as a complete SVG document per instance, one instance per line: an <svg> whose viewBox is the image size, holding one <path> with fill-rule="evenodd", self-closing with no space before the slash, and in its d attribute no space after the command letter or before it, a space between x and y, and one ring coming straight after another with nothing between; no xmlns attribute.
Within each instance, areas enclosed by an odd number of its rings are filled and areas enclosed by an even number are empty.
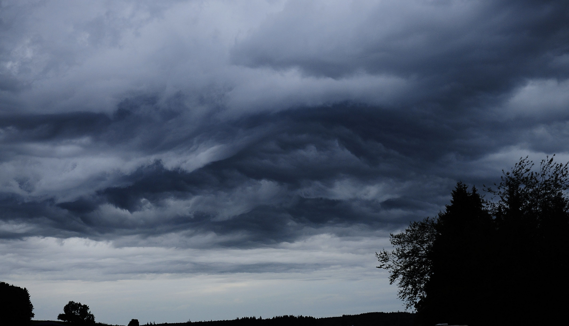
<svg viewBox="0 0 569 326"><path fill-rule="evenodd" d="M10 143L5 144L7 147L18 142L57 142L89 136L97 139L101 147L131 147L155 153L171 151L196 137L229 141L247 133L257 135L232 156L192 172L166 169L161 161L155 161L119 177L115 181L119 186L96 190L69 202L57 202L56 198L30 201L5 194L2 219L35 227L2 236L113 239L121 235L183 232L194 236L215 232L230 236L220 240L220 245L254 246L291 241L324 228L336 233L349 233L351 225L354 232L361 232L364 226L372 230L393 229L408 220L436 214L458 179L477 182L479 186L492 181L468 179L464 171L448 169L446 156L475 160L517 144L527 133L527 129L520 128L523 122L514 121L500 129L494 129L492 123L474 128L474 116L443 119L428 111L411 114L339 105L249 116L239 122L212 122L211 126L193 131L193 135L162 141L168 134L160 131L166 132L164 126L179 118L179 114L170 111L162 119L156 116L150 119L146 112L139 114L136 107L131 107L130 111L118 110L110 118L104 114L75 113L2 119L14 133ZM86 127L80 128L83 125ZM206 132L207 129L211 131ZM260 135L257 130L261 130ZM141 135L141 131L149 134ZM555 149L565 149L565 141L559 139ZM3 152L4 160L9 160L10 152ZM312 198L299 192L314 182L332 187L335 181L346 177L356 180L360 187L382 181L393 185L413 181L399 197L381 201ZM263 180L282 186L285 190L282 197L264 204L246 198L251 200L250 209L228 219L220 220L215 212L200 211L199 207L186 214L142 221L121 216L103 219L92 214L102 204L137 212L145 210L147 203L160 207L171 199L215 197L238 192L244 185Z"/></svg>

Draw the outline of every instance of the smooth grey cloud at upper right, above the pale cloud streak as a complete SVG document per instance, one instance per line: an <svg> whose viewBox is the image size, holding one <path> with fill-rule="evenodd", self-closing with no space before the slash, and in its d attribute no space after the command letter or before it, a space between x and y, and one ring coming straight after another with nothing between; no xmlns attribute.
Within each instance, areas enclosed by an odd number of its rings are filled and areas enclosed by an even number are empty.
<svg viewBox="0 0 569 326"><path fill-rule="evenodd" d="M415 5L402 2L365 12L348 27L357 37L343 39L337 37L341 31L332 32L341 22L327 22L331 32L306 24L318 9L293 2L238 43L232 59L251 67L297 67L306 74L333 78L362 71L413 77L429 86L422 85L426 89L410 97L447 106L504 94L526 78L569 76L567 65L556 60L569 49L567 3ZM299 20L305 23L295 23Z"/></svg>

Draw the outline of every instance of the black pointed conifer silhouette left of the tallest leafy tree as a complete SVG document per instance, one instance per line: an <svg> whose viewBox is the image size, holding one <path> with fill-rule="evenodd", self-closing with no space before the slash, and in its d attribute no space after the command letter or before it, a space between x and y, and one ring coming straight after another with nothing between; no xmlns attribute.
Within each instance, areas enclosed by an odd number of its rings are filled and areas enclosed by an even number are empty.
<svg viewBox="0 0 569 326"><path fill-rule="evenodd" d="M476 325L488 311L488 273L492 264L493 220L475 187L457 183L451 204L438 215L427 258L430 278L417 311L423 324Z"/></svg>

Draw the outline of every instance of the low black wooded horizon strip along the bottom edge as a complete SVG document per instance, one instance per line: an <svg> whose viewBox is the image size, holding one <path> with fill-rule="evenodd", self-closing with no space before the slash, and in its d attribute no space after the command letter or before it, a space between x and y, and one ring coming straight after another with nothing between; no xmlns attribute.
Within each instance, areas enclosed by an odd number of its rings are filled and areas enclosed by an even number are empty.
<svg viewBox="0 0 569 326"><path fill-rule="evenodd" d="M407 326L413 325L415 314L410 312L367 312L360 315L342 315L341 317L315 318L311 316L276 316L262 319L262 317L243 317L233 320L187 321L185 323L162 323L146 325L195 325L195 326ZM74 325L64 321L32 320L33 325ZM108 325L97 323L97 325ZM119 325L110 325L119 326ZM122 326L122 325L121 325Z"/></svg>

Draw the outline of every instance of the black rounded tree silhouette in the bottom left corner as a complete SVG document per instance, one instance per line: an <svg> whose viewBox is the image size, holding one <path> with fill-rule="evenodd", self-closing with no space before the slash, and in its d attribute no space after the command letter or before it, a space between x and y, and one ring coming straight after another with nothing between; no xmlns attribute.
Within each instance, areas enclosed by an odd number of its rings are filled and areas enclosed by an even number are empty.
<svg viewBox="0 0 569 326"><path fill-rule="evenodd" d="M5 325L28 325L34 317L34 305L24 287L0 282L0 323Z"/></svg>

